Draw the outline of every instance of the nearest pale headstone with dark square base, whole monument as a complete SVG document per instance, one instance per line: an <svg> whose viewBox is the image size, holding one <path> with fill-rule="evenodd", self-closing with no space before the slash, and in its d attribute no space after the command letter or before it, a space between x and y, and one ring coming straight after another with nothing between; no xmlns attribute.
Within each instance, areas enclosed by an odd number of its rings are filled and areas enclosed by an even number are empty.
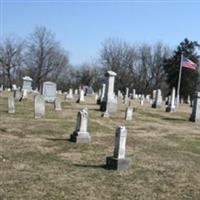
<svg viewBox="0 0 200 200"><path fill-rule="evenodd" d="M107 169L128 169L130 161L125 158L127 130L125 126L117 127L115 134L114 155L106 158Z"/></svg>

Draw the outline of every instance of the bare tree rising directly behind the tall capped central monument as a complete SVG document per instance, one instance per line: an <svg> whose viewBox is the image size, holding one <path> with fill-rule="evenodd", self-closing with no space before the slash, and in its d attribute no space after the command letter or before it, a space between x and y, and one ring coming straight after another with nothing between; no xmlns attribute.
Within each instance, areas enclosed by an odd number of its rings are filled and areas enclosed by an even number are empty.
<svg viewBox="0 0 200 200"><path fill-rule="evenodd" d="M104 70L113 70L117 73L116 89L125 91L126 87L133 86L133 66L136 58L135 48L126 42L106 40L100 52L100 62Z"/></svg>

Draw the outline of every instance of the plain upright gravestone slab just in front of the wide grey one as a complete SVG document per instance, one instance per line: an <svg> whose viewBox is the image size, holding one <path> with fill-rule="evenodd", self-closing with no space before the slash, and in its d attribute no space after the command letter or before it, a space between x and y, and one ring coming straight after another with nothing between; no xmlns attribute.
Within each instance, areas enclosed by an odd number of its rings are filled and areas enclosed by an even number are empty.
<svg viewBox="0 0 200 200"><path fill-rule="evenodd" d="M34 117L41 118L45 115L45 100L40 94L35 96L34 99Z"/></svg>

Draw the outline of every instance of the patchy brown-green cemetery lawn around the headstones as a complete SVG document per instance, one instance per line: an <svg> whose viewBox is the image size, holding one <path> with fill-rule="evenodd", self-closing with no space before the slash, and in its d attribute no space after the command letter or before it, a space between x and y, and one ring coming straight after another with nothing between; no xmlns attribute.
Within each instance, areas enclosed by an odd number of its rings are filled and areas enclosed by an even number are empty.
<svg viewBox="0 0 200 200"><path fill-rule="evenodd" d="M45 118L34 119L32 97L8 114L7 94L0 95L0 200L200 199L200 124L188 121L188 105L166 113L133 102L134 119L124 121L121 100L108 119L87 97L84 104L63 101L62 111L47 104ZM71 143L86 106L92 142ZM105 169L118 125L128 130L126 171Z"/></svg>

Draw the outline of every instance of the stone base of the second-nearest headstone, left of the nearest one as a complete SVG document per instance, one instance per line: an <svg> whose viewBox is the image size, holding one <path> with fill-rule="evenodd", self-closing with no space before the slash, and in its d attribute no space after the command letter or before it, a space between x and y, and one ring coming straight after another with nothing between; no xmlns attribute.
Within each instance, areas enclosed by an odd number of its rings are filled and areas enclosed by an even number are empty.
<svg viewBox="0 0 200 200"><path fill-rule="evenodd" d="M88 132L74 132L73 134L71 134L70 140L75 143L87 144L91 142L91 137Z"/></svg>

